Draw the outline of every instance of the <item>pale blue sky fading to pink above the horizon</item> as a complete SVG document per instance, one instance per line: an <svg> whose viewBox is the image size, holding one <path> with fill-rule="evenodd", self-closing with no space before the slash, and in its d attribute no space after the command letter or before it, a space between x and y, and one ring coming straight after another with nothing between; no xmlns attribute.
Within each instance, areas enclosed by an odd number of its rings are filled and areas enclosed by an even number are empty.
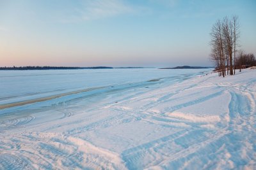
<svg viewBox="0 0 256 170"><path fill-rule="evenodd" d="M255 0L0 0L0 66L212 66L212 25L238 15L256 55Z"/></svg>

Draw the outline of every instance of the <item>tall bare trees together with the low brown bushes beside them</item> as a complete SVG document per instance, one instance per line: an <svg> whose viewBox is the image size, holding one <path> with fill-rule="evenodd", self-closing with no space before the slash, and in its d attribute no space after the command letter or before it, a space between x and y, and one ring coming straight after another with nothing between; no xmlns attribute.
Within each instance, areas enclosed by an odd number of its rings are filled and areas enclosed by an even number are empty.
<svg viewBox="0 0 256 170"><path fill-rule="evenodd" d="M236 69L246 66L255 66L255 57L252 53L238 50L240 38L239 20L236 15L224 17L212 25L211 30L211 60L216 66L219 76L236 74Z"/></svg>

